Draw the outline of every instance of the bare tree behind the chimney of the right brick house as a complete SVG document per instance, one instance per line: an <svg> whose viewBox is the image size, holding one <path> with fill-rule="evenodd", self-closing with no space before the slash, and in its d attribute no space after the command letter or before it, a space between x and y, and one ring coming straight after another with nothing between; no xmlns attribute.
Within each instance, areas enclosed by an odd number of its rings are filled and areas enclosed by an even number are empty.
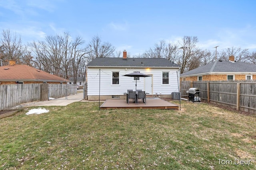
<svg viewBox="0 0 256 170"><path fill-rule="evenodd" d="M236 61L244 62L246 61L246 56L248 55L248 49L241 49L240 47L231 47L223 49L220 53L220 59L228 61L231 55L234 55Z"/></svg>

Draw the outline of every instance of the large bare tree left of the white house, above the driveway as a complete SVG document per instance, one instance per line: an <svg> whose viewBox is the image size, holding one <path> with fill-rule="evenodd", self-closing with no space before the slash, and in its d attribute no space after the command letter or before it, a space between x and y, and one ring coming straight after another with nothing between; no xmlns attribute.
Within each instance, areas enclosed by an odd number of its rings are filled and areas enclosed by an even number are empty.
<svg viewBox="0 0 256 170"><path fill-rule="evenodd" d="M88 49L81 47L84 41L76 37L73 41L70 33L64 35L47 36L46 41L38 41L30 44L36 55L36 65L39 69L68 78L78 76L78 70L82 59L88 54Z"/></svg>

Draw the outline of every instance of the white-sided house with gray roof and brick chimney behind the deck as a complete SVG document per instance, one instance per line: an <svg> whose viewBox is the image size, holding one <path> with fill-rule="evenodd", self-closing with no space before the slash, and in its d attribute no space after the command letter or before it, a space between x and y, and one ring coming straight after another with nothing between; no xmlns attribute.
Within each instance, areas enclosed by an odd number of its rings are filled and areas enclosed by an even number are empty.
<svg viewBox="0 0 256 170"><path fill-rule="evenodd" d="M162 58L95 58L87 65L88 100L124 99L124 92L135 90L136 79L124 76L135 71L149 74L138 77L137 88L152 96L170 98L178 92L178 64ZM178 76L178 77L177 77Z"/></svg>

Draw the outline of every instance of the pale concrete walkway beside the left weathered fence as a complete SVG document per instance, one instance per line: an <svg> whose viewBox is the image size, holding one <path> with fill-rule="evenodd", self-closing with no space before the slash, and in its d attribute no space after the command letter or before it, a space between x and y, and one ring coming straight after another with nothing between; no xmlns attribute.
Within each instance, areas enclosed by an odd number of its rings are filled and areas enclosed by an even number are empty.
<svg viewBox="0 0 256 170"><path fill-rule="evenodd" d="M36 102L35 104L32 104L30 106L67 106L68 104L71 104L73 102L80 102L81 100L83 100L83 97L83 93L78 93L68 96L67 99L66 97L63 97L54 100Z"/></svg>

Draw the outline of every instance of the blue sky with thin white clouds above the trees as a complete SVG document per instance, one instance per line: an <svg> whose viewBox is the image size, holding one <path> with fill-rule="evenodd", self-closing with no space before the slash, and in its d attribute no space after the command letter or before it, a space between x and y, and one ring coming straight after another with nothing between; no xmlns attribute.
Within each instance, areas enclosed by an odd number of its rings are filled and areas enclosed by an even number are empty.
<svg viewBox="0 0 256 170"><path fill-rule="evenodd" d="M22 42L69 32L98 35L116 50L142 54L160 40L198 37L202 49L256 51L255 0L0 0L0 30Z"/></svg>

